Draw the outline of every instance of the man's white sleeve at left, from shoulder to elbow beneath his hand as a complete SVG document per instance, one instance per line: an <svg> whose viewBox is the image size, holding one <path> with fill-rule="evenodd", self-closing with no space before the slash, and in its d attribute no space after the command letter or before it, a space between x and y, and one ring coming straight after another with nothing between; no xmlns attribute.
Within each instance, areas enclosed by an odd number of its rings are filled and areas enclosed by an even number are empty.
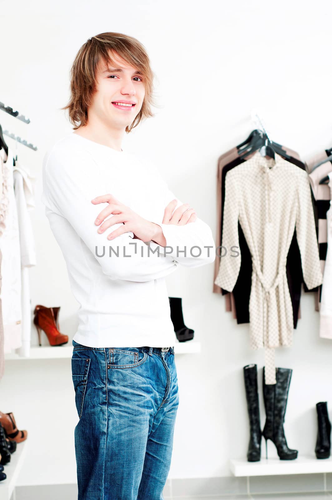
<svg viewBox="0 0 332 500"><path fill-rule="evenodd" d="M122 222L111 225L101 234L97 232L99 226L94 220L106 204L94 205L91 200L105 194L105 185L98 164L89 152L53 148L44 157L42 182L41 200L46 211L48 207L68 220L110 279L150 281L170 274L177 267L171 256L153 253L145 242L133 238L132 231L108 240L107 235ZM113 249L110 252L109 247Z"/></svg>

